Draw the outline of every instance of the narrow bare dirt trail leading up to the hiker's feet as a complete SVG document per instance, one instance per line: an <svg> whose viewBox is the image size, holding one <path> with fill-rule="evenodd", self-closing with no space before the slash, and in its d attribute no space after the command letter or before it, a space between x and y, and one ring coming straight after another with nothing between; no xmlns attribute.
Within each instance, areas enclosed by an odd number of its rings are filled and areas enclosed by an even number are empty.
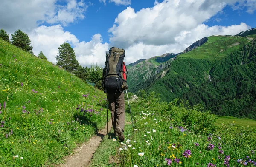
<svg viewBox="0 0 256 167"><path fill-rule="evenodd" d="M108 122L108 132L111 130L111 121ZM65 159L65 164L58 165L58 167L87 167L90 164L93 154L102 142L103 136L107 134L107 125L96 134L90 138L90 140L84 143L81 147L75 150L75 153L68 156Z"/></svg>

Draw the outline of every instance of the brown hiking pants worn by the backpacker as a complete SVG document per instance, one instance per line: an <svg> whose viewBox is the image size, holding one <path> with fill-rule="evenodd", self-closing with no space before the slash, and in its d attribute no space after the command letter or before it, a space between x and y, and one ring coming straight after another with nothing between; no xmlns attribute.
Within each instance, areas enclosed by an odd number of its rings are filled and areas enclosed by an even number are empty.
<svg viewBox="0 0 256 167"><path fill-rule="evenodd" d="M124 92L107 92L108 106L111 111L112 126L114 131L116 127L125 129L125 96Z"/></svg>

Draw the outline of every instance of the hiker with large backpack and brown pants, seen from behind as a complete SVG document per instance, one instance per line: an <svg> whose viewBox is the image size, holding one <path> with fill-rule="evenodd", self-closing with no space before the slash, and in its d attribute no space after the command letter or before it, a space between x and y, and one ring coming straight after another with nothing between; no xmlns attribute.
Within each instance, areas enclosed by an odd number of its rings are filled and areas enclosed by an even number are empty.
<svg viewBox="0 0 256 167"><path fill-rule="evenodd" d="M102 87L107 94L108 106L111 111L112 126L115 136L124 141L125 128L125 96L128 89L126 83L126 67L123 62L125 50L116 47L106 51L106 62L102 74Z"/></svg>

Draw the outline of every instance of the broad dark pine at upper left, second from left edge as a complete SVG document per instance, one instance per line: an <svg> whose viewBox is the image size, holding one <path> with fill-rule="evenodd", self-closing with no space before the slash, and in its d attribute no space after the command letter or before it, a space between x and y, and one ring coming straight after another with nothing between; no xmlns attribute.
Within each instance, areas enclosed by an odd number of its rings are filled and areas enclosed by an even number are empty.
<svg viewBox="0 0 256 167"><path fill-rule="evenodd" d="M29 53L33 54L32 49L33 47L30 46L31 40L29 36L21 30L15 31L14 34L11 34L12 39L11 42L13 45L21 48L24 51L28 51Z"/></svg>

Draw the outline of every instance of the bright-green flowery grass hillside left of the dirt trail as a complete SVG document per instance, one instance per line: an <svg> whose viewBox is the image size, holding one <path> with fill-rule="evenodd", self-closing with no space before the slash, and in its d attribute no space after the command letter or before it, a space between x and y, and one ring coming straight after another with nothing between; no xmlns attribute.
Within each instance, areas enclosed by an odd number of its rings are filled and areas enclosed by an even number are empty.
<svg viewBox="0 0 256 167"><path fill-rule="evenodd" d="M0 74L1 167L59 163L105 124L102 91L2 40Z"/></svg>

